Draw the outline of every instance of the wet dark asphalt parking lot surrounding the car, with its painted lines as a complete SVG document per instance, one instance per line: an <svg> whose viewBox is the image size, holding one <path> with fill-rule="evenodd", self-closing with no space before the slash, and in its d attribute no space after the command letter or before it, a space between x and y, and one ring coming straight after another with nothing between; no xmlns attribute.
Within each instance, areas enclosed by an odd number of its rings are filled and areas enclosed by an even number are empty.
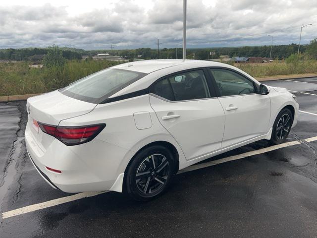
<svg viewBox="0 0 317 238"><path fill-rule="evenodd" d="M265 84L298 98L288 143L260 141L211 158L176 175L147 203L116 192L74 197L53 189L26 154L25 102L0 103L0 238L316 238L317 78Z"/></svg>

